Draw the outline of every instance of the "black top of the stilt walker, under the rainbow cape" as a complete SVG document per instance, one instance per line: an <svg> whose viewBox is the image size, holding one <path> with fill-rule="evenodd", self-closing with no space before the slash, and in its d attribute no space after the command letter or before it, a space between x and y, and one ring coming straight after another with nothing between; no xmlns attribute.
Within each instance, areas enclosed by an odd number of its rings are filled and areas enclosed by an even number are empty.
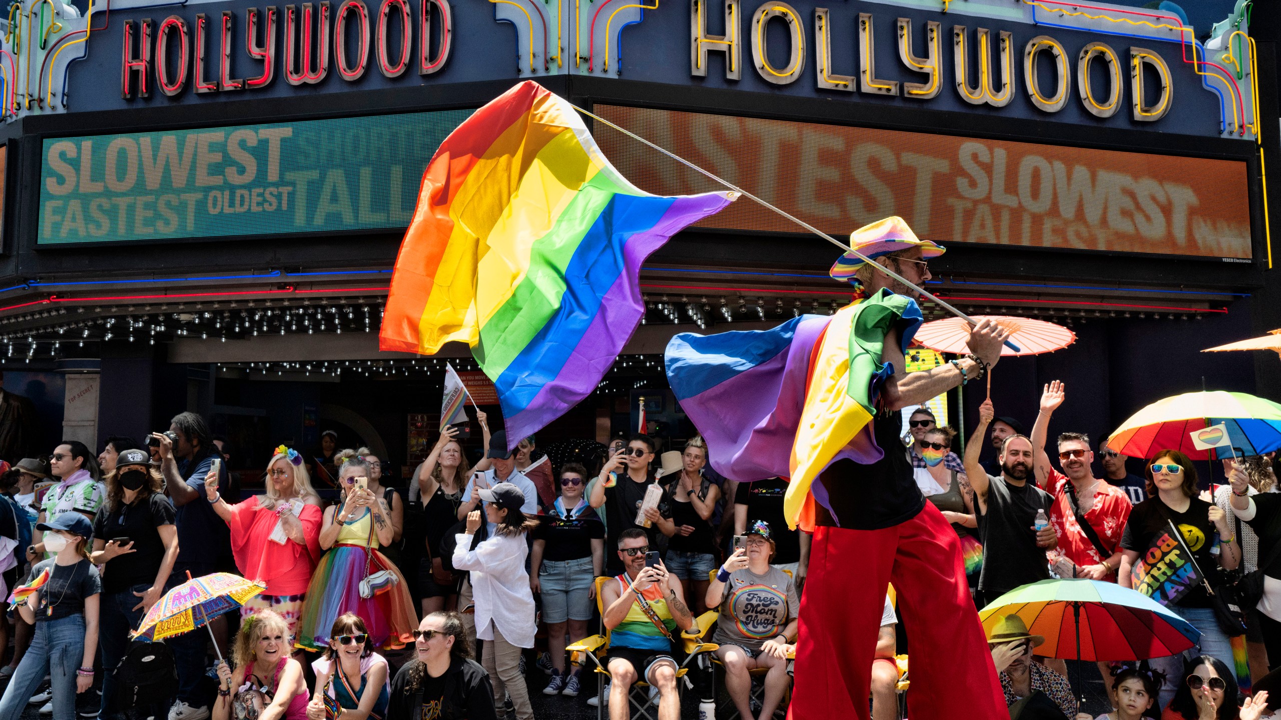
<svg viewBox="0 0 1281 720"><path fill-rule="evenodd" d="M916 487L912 459L899 439L902 414L888 410L872 420L876 445L884 455L871 465L838 460L819 474L815 495L825 492L831 506L816 503L819 525L854 530L880 530L906 523L925 507L925 496ZM612 525L610 525L612 528Z"/></svg>

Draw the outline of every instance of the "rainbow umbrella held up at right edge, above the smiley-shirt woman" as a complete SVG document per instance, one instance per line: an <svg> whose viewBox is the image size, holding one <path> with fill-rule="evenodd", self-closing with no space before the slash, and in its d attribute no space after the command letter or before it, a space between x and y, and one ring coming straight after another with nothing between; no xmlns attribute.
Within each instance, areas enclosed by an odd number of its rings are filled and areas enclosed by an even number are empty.
<svg viewBox="0 0 1281 720"><path fill-rule="evenodd" d="M1130 457L1152 457L1162 450L1177 450L1193 460L1213 460L1208 450L1193 445L1195 430L1207 430L1202 441L1213 441L1213 425L1226 425L1231 448L1216 456L1262 455L1281 448L1281 405L1244 392L1203 391L1158 400L1139 410L1108 438L1108 448Z"/></svg>

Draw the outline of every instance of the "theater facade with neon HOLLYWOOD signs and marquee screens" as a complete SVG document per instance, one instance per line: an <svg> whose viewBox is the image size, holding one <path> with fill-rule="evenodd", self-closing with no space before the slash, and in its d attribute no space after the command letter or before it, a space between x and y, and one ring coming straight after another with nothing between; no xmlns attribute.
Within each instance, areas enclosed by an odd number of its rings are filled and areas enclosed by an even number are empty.
<svg viewBox="0 0 1281 720"><path fill-rule="evenodd" d="M1176 392L1277 397L1276 356L1200 352L1281 327L1275 42L1252 27L1275 10L1195 10L17 0L0 17L4 388L33 397L45 443L190 409L246 465L328 428L411 465L443 363L475 366L465 347L378 351L400 238L439 142L534 79L834 236L902 215L948 247L944 300L1071 327L1071 347L995 370L999 414L1030 423L1056 378L1057 419L1094 434ZM714 187L594 133L644 190ZM828 277L838 254L749 200L674 237L642 273L624 356L541 443L606 439L642 404L656 434L688 436L667 340L834 311L851 299ZM984 395L953 393L951 421Z"/></svg>

